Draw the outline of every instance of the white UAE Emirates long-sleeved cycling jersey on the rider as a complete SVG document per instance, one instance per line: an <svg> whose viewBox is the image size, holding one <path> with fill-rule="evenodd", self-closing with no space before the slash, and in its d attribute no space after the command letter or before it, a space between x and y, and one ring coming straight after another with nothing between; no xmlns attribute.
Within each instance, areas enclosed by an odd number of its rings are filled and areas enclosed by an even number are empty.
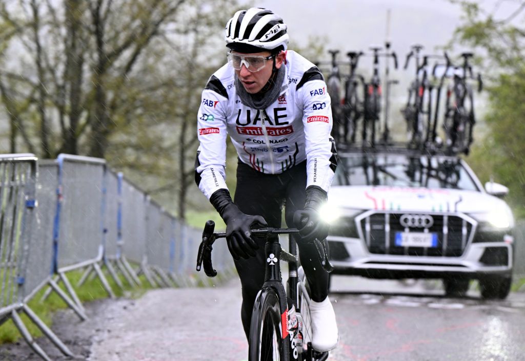
<svg viewBox="0 0 525 361"><path fill-rule="evenodd" d="M328 192L337 162L326 84L317 67L294 51L287 51L283 66L285 86L267 109L241 102L228 63L209 79L197 115L201 144L195 164L197 184L208 199L227 189L227 134L241 162L258 172L278 174L306 160L307 186Z"/></svg>

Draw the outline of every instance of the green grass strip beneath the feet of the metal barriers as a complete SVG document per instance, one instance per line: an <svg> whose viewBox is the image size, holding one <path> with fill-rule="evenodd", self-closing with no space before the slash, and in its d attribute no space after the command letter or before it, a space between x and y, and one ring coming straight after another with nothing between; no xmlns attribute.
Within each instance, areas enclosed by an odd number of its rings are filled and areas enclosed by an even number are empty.
<svg viewBox="0 0 525 361"><path fill-rule="evenodd" d="M75 292L82 303L108 298L108 293L103 288L102 283L98 277L90 277L85 283L82 284L82 286L78 287L77 283L81 279L82 274L82 270L71 271L66 274L69 282L75 289ZM129 283L127 283L127 280L123 277L123 275L119 274L119 279L124 287L123 289L117 285L116 281L113 280L113 278L105 270L104 275L106 276L113 293L117 297L126 296L129 298L139 298L148 289L152 288L144 275L139 277L142 285L140 287L132 287ZM62 290L66 291L62 282L59 283L59 286ZM28 302L28 306L31 310L33 310L33 312L36 313L40 320L42 320L48 327L51 327L53 324L53 314L58 310L67 309L68 306L56 292L51 292L44 301L40 301L46 290L47 286L37 292L36 295ZM40 328L31 322L24 312L20 312L19 314L31 336L35 338L43 336ZM13 320L10 318L0 326L0 344L15 343L21 338L22 335L13 323Z"/></svg>

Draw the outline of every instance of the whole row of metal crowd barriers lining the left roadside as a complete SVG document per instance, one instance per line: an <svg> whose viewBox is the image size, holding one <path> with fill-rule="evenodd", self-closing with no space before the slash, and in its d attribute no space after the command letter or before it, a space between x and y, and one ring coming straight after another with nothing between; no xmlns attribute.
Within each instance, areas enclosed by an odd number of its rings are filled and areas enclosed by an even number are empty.
<svg viewBox="0 0 525 361"><path fill-rule="evenodd" d="M99 158L60 154L38 161L33 154L0 155L0 230L0 325L12 319L45 360L51 361L19 313L73 357L27 305L47 288L41 302L56 292L85 320L70 271L83 271L76 288L98 277L110 297L107 275L120 288L124 282L140 285L141 275L152 286L212 284L195 271L202 231L167 213ZM214 264L221 278L233 276L225 242L214 246Z"/></svg>

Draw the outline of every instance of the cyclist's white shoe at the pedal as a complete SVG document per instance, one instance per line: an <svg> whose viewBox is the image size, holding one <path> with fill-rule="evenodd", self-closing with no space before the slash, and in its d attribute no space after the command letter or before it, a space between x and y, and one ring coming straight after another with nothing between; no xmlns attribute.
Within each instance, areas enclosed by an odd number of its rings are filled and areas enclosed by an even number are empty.
<svg viewBox="0 0 525 361"><path fill-rule="evenodd" d="M328 297L322 302L310 301L310 315L313 348L318 352L333 350L339 342L339 332L335 312Z"/></svg>

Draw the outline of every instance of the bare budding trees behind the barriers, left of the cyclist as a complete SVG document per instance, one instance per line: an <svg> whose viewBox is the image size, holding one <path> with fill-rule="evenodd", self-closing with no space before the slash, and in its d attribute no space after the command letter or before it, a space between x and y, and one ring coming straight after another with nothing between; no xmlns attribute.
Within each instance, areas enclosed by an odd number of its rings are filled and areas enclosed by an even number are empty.
<svg viewBox="0 0 525 361"><path fill-rule="evenodd" d="M106 157L184 218L201 91L225 61L236 9L237 0L0 0L10 151Z"/></svg>

